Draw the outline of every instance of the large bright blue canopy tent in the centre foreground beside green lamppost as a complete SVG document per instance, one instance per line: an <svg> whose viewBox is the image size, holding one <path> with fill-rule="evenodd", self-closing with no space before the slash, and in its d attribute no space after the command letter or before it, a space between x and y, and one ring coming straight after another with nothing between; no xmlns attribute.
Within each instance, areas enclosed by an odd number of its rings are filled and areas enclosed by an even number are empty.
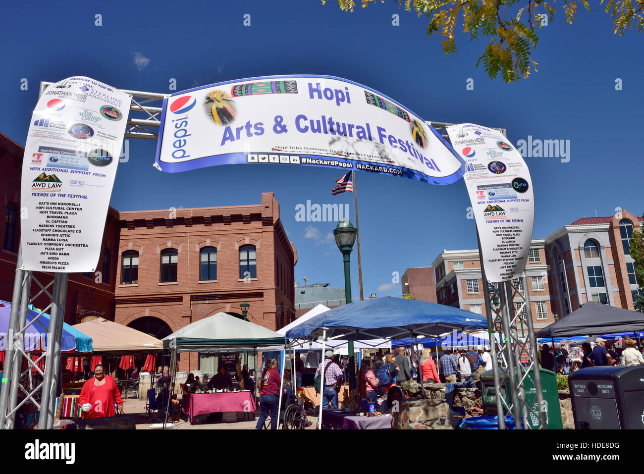
<svg viewBox="0 0 644 474"><path fill-rule="evenodd" d="M482 330L488 328L484 316L450 306L404 298L375 298L355 301L323 312L291 328L288 339L312 339L322 336L323 351L327 339L402 339L418 336L440 337L451 330ZM421 388L424 387L421 377ZM320 407L322 392L320 387ZM318 426L322 426L319 412Z"/></svg>

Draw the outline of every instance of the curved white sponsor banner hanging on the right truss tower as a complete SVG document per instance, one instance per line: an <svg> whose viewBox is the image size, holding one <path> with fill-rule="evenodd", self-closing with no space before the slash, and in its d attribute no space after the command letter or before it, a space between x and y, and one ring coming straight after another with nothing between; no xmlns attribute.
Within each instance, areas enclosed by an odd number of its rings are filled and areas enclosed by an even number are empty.
<svg viewBox="0 0 644 474"><path fill-rule="evenodd" d="M486 276L489 281L519 278L526 268L535 221L535 194L526 162L498 130L460 124L447 131L466 162L464 180Z"/></svg>

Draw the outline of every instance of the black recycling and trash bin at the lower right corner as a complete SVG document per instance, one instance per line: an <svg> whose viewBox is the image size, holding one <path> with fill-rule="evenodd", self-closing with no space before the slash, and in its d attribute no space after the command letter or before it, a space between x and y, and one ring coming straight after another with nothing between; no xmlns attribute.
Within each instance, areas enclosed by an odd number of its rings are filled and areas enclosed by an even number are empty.
<svg viewBox="0 0 644 474"><path fill-rule="evenodd" d="M568 384L577 430L644 429L644 366L582 368Z"/></svg>

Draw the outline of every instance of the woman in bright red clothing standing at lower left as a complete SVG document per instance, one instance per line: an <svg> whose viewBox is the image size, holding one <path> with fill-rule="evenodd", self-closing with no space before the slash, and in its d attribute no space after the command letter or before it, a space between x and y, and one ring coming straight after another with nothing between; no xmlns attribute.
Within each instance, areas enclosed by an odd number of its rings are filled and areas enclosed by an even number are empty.
<svg viewBox="0 0 644 474"><path fill-rule="evenodd" d="M99 364L94 368L94 376L82 386L79 397L82 418L113 417L115 402L122 411L123 401L117 383L112 377L105 375L103 366Z"/></svg>

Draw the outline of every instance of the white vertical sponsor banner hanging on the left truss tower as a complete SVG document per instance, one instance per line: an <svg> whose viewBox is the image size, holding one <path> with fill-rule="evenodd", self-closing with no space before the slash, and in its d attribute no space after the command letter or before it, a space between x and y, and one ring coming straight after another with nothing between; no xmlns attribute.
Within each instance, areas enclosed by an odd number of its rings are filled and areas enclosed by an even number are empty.
<svg viewBox="0 0 644 474"><path fill-rule="evenodd" d="M56 82L41 95L24 147L24 269L96 269L129 99L81 76Z"/></svg>

